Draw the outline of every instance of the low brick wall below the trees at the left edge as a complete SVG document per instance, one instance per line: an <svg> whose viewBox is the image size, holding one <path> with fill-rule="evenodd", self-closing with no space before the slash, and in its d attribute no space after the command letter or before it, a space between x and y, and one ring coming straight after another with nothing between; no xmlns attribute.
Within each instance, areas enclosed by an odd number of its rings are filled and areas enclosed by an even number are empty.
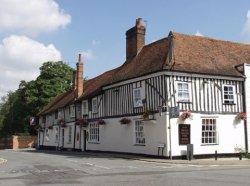
<svg viewBox="0 0 250 186"><path fill-rule="evenodd" d="M36 136L11 136L0 139L0 149L22 149L34 147L37 142Z"/></svg>

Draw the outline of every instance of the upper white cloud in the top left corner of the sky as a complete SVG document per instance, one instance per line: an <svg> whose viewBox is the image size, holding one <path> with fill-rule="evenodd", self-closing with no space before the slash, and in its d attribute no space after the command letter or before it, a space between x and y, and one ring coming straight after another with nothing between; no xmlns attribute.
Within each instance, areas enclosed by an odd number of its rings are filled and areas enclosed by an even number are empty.
<svg viewBox="0 0 250 186"><path fill-rule="evenodd" d="M1 0L0 30L38 34L65 27L71 17L55 0Z"/></svg>

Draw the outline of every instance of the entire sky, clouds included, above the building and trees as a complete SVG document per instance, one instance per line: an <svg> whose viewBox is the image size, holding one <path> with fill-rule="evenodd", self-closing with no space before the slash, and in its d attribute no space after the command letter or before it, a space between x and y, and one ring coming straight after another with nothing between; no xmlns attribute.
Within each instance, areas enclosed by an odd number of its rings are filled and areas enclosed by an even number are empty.
<svg viewBox="0 0 250 186"><path fill-rule="evenodd" d="M85 76L88 78L121 65L125 60L125 32L134 26L137 17L147 22L146 43L166 37L170 30L186 34L199 31L217 39L250 41L249 0L0 1L3 1L0 58L4 59L0 65L5 69L0 73L0 96L17 88L21 79L34 79L43 60L62 59L75 67L76 54L83 52L87 54ZM9 15L13 20L8 18L6 23ZM20 73L16 73L14 66ZM21 67L26 71L20 71ZM26 76L27 68L34 73Z"/></svg>

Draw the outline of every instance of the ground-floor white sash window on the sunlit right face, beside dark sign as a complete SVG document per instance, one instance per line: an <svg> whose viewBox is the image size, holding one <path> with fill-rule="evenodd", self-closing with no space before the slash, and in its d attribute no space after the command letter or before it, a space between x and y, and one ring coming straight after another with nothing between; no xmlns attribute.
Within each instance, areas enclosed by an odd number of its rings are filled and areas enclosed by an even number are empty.
<svg viewBox="0 0 250 186"><path fill-rule="evenodd" d="M217 144L218 141L216 119L204 118L202 119L202 144Z"/></svg>

